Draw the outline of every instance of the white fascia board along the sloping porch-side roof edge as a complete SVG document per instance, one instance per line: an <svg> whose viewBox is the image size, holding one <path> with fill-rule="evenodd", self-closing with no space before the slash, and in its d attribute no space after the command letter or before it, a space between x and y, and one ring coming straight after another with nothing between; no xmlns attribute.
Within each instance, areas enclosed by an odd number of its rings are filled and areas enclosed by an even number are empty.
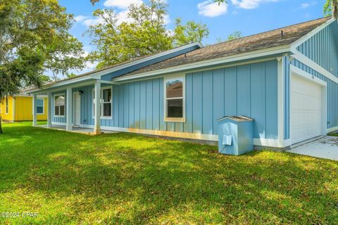
<svg viewBox="0 0 338 225"><path fill-rule="evenodd" d="M79 78L75 78L75 79L70 79L70 80L65 80L64 82L59 82L57 84L51 84L51 86L46 86L45 90L51 89L51 88L55 88L55 87L58 87L58 86L63 86L63 85L77 83L77 82L87 81L87 80L90 80L90 79L101 79L102 75L106 75L108 73L115 72L115 71L118 71L118 70L123 70L124 68L129 68L129 67L131 67L133 65L137 65L139 63L144 63L146 61L153 60L153 59L161 57L161 56L166 56L168 54L175 53L177 51L181 51L181 50L184 50L184 49L189 49L192 46L199 46L199 49L201 49L203 47L203 45L201 43L194 42L192 44L187 44L187 45L175 48L175 49L171 49L171 50L168 50L168 51L164 51L162 53L155 54L154 56L148 56L148 57L145 57L145 58L141 58L139 60L134 60L134 61L132 61L130 63L125 63L123 65L118 65L118 66L113 67L113 68L109 68L109 69L106 69L106 70L101 70L101 71L98 71L98 72L93 72L91 75L87 75L87 76L79 77ZM35 93L37 91L41 91L41 90L39 89L39 90L27 91L27 93Z"/></svg>

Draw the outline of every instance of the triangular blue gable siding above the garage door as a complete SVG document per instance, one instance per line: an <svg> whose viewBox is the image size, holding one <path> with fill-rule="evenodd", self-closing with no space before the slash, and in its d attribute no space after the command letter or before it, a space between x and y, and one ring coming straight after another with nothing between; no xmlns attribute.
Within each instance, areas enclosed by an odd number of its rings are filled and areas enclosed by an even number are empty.
<svg viewBox="0 0 338 225"><path fill-rule="evenodd" d="M338 23L331 23L297 47L315 63L338 77Z"/></svg>

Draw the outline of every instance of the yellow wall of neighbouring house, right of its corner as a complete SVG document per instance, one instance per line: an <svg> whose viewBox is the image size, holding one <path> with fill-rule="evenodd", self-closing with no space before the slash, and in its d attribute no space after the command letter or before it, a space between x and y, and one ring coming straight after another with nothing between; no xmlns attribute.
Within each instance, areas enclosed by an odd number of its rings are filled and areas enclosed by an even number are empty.
<svg viewBox="0 0 338 225"><path fill-rule="evenodd" d="M32 96L15 97L15 121L33 120ZM44 114L37 115L37 120L47 120L48 115L48 98L44 98Z"/></svg>

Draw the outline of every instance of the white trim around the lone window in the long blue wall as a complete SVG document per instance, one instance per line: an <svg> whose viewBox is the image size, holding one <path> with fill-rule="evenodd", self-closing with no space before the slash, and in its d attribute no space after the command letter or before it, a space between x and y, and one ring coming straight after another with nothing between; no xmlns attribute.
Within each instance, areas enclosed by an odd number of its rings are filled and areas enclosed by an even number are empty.
<svg viewBox="0 0 338 225"><path fill-rule="evenodd" d="M183 117L182 118L174 118L174 117L168 117L168 112L167 112L167 81L171 79L182 79L183 81ZM164 92L164 98L163 98L163 113L164 113L164 122L186 122L186 117L185 117L185 73L180 73L180 74L175 74L175 75L170 75L166 76L163 79L163 92ZM176 98L169 98L169 99L176 99Z"/></svg>

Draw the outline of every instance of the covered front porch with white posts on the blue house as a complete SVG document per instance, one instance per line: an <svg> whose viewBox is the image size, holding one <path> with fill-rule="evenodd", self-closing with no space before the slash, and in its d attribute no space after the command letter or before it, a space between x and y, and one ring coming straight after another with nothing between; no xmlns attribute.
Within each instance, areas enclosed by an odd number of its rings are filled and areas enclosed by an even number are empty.
<svg viewBox="0 0 338 225"><path fill-rule="evenodd" d="M113 121L112 82L95 79L40 92L48 96L47 124L37 125L37 93L33 93L33 126L89 135L113 133L101 130Z"/></svg>

